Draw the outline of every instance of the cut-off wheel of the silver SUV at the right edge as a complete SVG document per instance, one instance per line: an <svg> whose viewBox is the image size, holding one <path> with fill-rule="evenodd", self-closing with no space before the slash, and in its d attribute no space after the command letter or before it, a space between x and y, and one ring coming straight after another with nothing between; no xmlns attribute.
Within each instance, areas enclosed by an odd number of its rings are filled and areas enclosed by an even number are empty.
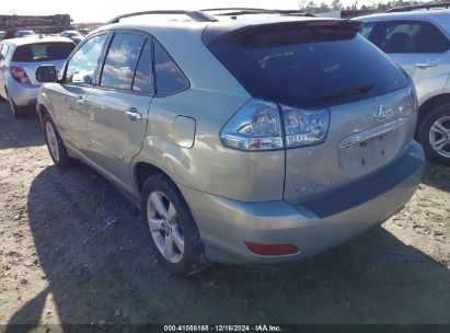
<svg viewBox="0 0 450 333"><path fill-rule="evenodd" d="M450 103L434 108L424 118L418 139L427 158L450 166Z"/></svg>

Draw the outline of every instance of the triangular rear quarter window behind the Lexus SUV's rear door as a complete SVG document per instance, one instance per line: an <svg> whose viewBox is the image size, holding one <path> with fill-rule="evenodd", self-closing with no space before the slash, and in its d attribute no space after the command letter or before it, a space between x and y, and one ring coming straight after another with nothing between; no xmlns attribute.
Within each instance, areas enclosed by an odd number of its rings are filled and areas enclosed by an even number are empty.
<svg viewBox="0 0 450 333"><path fill-rule="evenodd" d="M178 66L159 43L154 43L154 77L159 95L174 94L189 87Z"/></svg>

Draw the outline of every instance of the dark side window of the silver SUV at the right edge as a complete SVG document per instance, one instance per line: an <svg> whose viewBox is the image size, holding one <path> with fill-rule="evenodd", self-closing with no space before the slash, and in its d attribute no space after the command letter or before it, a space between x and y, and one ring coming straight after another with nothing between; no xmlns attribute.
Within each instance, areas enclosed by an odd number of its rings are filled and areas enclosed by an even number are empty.
<svg viewBox="0 0 450 333"><path fill-rule="evenodd" d="M428 22L385 22L381 27L377 45L386 54L434 53L431 41L436 41L436 34L441 33L436 26ZM436 41L436 45L442 48L442 42L440 41Z"/></svg>

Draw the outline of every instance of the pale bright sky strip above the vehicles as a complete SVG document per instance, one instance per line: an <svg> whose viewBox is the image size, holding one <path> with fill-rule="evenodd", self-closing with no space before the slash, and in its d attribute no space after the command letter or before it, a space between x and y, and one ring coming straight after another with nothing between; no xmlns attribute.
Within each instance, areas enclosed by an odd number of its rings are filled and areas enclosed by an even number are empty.
<svg viewBox="0 0 450 333"><path fill-rule="evenodd" d="M49 15L70 14L74 23L104 22L119 14L157 9L203 9L219 7L254 7L268 9L298 9L304 0L1 0L0 14ZM309 0L308 0L309 1ZM307 2L308 2L307 1ZM356 0L341 0L347 7ZM332 0L315 0L315 3ZM376 0L358 0L373 4Z"/></svg>

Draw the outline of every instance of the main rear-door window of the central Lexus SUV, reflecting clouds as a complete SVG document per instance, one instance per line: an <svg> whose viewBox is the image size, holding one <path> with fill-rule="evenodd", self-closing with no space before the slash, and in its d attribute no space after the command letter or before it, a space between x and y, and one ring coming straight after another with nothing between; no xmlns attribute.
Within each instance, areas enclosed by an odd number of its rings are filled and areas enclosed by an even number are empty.
<svg viewBox="0 0 450 333"><path fill-rule="evenodd" d="M134 34L114 35L103 66L101 87L131 90L132 77L146 37Z"/></svg>

